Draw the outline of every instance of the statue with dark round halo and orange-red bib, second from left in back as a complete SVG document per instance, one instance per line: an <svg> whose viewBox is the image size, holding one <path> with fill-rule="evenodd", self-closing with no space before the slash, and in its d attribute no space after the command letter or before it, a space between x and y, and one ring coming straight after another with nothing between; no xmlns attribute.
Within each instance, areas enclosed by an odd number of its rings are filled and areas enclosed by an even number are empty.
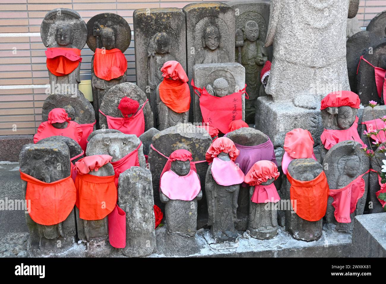
<svg viewBox="0 0 386 284"><path fill-rule="evenodd" d="M131 41L127 21L113 13L95 15L87 22L87 45L95 52L91 59L91 87L95 116L108 90L126 82L127 60L123 54Z"/></svg>

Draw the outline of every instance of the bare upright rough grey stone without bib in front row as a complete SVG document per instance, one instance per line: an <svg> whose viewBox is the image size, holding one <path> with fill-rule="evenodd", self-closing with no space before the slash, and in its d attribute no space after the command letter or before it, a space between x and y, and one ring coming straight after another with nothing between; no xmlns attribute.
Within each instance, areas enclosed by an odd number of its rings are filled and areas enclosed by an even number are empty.
<svg viewBox="0 0 386 284"><path fill-rule="evenodd" d="M142 167L131 167L119 177L118 202L126 212L127 257L144 257L156 249L154 233L154 200L151 173Z"/></svg>

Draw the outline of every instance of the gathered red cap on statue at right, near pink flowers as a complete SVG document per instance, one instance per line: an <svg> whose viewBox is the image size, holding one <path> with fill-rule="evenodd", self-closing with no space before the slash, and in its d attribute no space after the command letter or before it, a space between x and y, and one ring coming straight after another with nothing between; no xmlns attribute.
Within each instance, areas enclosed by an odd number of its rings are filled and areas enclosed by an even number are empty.
<svg viewBox="0 0 386 284"><path fill-rule="evenodd" d="M320 102L320 109L327 109L327 107L343 107L349 106L354 109L359 109L361 100L359 96L351 91L339 91L330 93L325 96Z"/></svg>

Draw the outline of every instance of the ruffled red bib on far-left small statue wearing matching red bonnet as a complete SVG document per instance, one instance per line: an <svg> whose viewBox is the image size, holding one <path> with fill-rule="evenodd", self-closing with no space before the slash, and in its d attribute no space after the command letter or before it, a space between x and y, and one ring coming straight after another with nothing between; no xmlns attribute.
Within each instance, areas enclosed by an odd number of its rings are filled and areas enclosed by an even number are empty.
<svg viewBox="0 0 386 284"><path fill-rule="evenodd" d="M68 121L66 128L54 128L51 123L44 121L37 128L37 133L34 135L34 143L51 136L66 136L80 143L82 135L82 128L75 121Z"/></svg>

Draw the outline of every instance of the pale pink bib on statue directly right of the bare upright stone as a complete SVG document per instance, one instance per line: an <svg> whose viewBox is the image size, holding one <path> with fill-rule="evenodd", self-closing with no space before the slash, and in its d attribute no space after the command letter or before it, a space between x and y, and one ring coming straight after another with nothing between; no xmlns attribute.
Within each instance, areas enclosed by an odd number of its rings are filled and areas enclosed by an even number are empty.
<svg viewBox="0 0 386 284"><path fill-rule="evenodd" d="M194 170L190 170L184 176L179 176L172 170L168 170L162 175L159 188L170 199L191 201L200 192L201 184Z"/></svg>

